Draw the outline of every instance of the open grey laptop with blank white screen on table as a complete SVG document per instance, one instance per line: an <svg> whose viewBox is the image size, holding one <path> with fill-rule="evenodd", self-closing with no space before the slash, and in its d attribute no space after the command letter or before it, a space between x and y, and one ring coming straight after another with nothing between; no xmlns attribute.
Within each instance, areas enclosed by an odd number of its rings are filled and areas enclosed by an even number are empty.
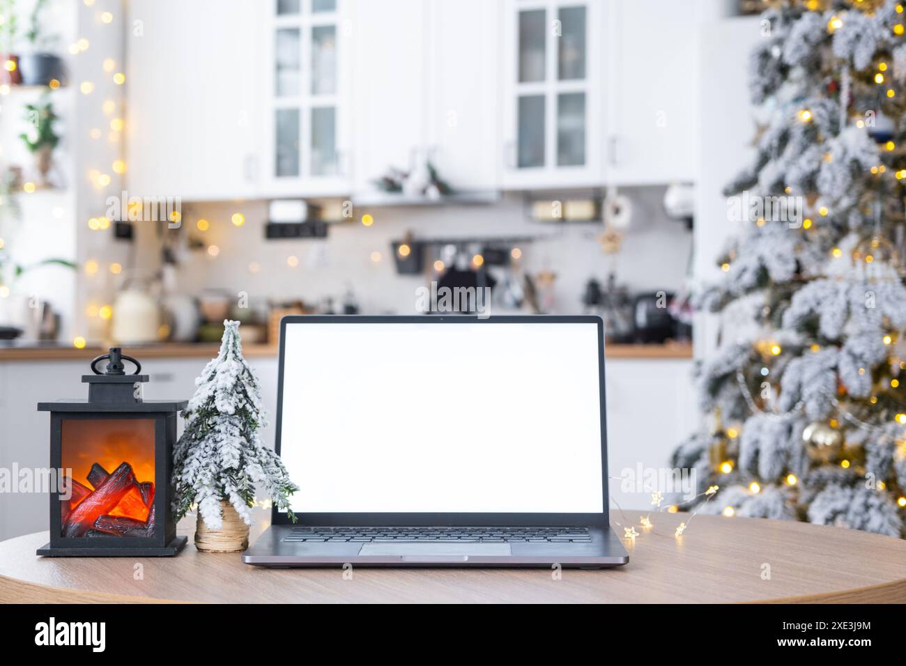
<svg viewBox="0 0 906 666"><path fill-rule="evenodd" d="M624 565L597 316L287 316L264 566Z"/></svg>

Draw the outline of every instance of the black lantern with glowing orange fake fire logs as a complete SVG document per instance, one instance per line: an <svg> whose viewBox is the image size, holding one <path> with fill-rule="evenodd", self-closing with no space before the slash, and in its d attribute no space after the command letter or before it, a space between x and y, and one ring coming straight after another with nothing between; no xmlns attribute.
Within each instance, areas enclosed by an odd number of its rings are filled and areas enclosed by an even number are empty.
<svg viewBox="0 0 906 666"><path fill-rule="evenodd" d="M92 372L82 375L87 401L38 403L51 412L51 468L63 475L63 492L50 497L51 541L38 555L176 555L186 537L176 536L170 473L187 401L142 400L148 375L119 347L94 359Z"/></svg>

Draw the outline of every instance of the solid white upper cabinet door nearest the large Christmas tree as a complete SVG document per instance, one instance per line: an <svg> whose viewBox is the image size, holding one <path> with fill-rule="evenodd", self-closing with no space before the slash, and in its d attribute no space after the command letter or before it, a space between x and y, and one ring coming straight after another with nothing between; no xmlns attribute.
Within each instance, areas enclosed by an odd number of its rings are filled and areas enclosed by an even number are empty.
<svg viewBox="0 0 906 666"><path fill-rule="evenodd" d="M607 179L695 179L699 9L675 0L613 2Z"/></svg>

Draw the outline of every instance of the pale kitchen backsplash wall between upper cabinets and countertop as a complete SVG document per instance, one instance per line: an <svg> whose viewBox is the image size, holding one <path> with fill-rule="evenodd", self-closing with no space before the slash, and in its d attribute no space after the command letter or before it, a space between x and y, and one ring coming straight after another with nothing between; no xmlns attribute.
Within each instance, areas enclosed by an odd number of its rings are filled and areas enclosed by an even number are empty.
<svg viewBox="0 0 906 666"><path fill-rule="evenodd" d="M553 272L551 312L574 313L582 309L588 279L596 277L603 283L611 265L618 282L631 292L678 290L683 285L692 234L682 222L665 215L663 192L660 187L624 191L633 212L622 250L615 256L602 252L600 224L529 221L524 200L515 195L491 205L357 207L354 219L333 224L326 239L304 240L266 240L265 201L183 204L180 233L203 245L187 250L178 244L175 288L196 295L221 290L238 297L245 292L253 304L297 299L319 304L327 298L339 304L351 288L362 314L411 314L415 290L426 284L426 277L398 275L390 245L408 232L416 240L544 236L520 244L520 267L532 274ZM245 218L239 227L231 221L236 212ZM361 224L365 213L374 219L371 227ZM199 219L207 220L206 230L198 229ZM149 275L160 263L159 231L141 223L137 227L135 273ZM124 262L131 261L126 244L115 242L114 247L111 251L119 252Z"/></svg>

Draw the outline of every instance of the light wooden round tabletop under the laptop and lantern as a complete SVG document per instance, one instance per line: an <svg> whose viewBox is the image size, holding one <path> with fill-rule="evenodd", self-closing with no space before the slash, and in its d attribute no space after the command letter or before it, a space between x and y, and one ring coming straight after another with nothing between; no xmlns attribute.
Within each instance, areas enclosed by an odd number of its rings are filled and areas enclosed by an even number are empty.
<svg viewBox="0 0 906 666"><path fill-rule="evenodd" d="M647 512L646 512L647 515ZM39 558L47 533L0 543L0 602L906 602L906 541L757 518L612 512L629 565L564 569L263 569L238 554L198 553L194 523L171 558ZM253 538L265 521L253 526ZM138 567L137 565L141 565ZM141 576L138 570L141 570Z"/></svg>

